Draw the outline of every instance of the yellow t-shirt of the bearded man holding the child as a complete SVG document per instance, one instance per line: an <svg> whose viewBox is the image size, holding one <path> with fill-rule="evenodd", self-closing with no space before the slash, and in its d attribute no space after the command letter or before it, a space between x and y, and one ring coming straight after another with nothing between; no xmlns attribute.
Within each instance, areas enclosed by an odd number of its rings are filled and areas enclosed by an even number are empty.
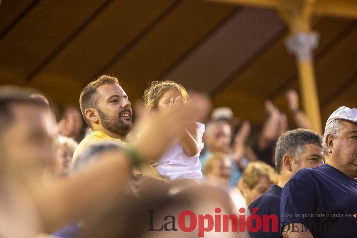
<svg viewBox="0 0 357 238"><path fill-rule="evenodd" d="M74 151L73 154L73 162L77 159L77 157L79 156L80 153L82 153L82 151L88 146L91 145L92 143L96 143L96 142L116 142L116 143L121 143L123 145L129 145L125 142L122 142L120 139L114 139L110 136L108 136L107 134L105 134L104 132L101 131L93 131L89 136L87 136L86 138L84 138L79 145L77 146L76 150ZM157 172L156 168L152 167L150 164L147 163L143 163L140 168L137 168L139 170L139 172L143 175L143 176L147 176L147 175L151 175L151 176L155 176L158 178L162 178L159 174L159 172Z"/></svg>

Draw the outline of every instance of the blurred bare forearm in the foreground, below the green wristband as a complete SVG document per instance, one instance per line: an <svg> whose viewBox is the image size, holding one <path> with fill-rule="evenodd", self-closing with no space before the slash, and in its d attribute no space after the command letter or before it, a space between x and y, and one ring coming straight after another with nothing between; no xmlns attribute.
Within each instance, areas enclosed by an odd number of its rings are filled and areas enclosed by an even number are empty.
<svg viewBox="0 0 357 238"><path fill-rule="evenodd" d="M80 221L98 203L126 199L118 196L130 179L131 163L125 152L112 152L84 172L48 186L33 186L32 197L46 232L53 232L69 221Z"/></svg>

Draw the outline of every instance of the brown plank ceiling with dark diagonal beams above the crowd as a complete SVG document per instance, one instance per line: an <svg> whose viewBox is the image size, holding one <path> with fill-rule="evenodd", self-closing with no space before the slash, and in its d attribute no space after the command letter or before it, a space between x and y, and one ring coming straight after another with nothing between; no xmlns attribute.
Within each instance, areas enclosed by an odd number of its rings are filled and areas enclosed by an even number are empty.
<svg viewBox="0 0 357 238"><path fill-rule="evenodd" d="M287 27L276 12L200 0L13 0L0 5L0 84L35 87L77 105L86 83L116 76L132 102L148 82L172 79L207 91L253 126L270 98L289 118L298 90ZM314 19L322 122L357 107L357 21Z"/></svg>

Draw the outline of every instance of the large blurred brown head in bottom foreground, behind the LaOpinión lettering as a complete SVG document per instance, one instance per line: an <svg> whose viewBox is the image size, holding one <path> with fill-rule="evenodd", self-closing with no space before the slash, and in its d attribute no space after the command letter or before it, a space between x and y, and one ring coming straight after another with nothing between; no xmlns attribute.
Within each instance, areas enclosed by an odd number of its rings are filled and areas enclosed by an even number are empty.
<svg viewBox="0 0 357 238"><path fill-rule="evenodd" d="M185 226L192 228L190 232L184 232L181 229L182 224L179 225L180 214L184 211L191 211L191 216L185 217ZM128 201L125 206L117 206L106 213L94 214L83 223L83 237L193 238L198 237L199 230L202 232L199 227L203 227L203 224L199 220L206 214L212 216L212 219L215 215L234 214L233 203L228 194L220 188L205 185L191 186L173 196L151 192ZM201 216L198 217L199 215ZM237 222L238 220L239 217ZM204 227L207 227L206 223ZM232 232L231 225L228 232L215 232L212 226L211 229L206 229L204 237L246 237L243 234Z"/></svg>

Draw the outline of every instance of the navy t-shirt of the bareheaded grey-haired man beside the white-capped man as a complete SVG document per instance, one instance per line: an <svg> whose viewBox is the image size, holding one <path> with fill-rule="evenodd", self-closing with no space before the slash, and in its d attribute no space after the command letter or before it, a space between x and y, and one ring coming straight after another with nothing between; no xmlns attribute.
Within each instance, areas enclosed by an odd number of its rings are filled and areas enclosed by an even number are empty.
<svg viewBox="0 0 357 238"><path fill-rule="evenodd" d="M262 196L255 199L249 205L249 211L252 213L253 207L259 208L254 214L259 215L263 221L263 215L270 216L271 214L275 214L278 218L277 222L277 231L273 232L272 221L269 221L269 232L263 232L263 228L261 228L258 232L249 232L251 238L282 238L283 236L280 234L280 196L281 196L282 188L277 186L276 184L272 184L270 189L264 193ZM255 220L253 220L253 226L255 227Z"/></svg>

